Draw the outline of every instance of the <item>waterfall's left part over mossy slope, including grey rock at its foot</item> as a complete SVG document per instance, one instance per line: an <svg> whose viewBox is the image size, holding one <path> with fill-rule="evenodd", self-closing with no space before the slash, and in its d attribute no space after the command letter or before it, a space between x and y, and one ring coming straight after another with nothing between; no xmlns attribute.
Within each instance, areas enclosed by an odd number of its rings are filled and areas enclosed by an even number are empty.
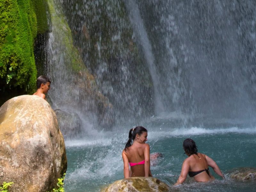
<svg viewBox="0 0 256 192"><path fill-rule="evenodd" d="M113 124L112 105L99 91L85 67L59 2L49 0L51 31L47 42L47 75L52 79L48 93L65 138L81 138L93 128ZM103 127L103 128L102 128Z"/></svg>

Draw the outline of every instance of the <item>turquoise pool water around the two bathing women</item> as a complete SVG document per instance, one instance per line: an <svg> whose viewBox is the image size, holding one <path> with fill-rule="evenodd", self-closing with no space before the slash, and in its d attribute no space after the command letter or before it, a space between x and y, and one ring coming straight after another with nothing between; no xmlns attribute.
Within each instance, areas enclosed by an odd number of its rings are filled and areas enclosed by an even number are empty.
<svg viewBox="0 0 256 192"><path fill-rule="evenodd" d="M175 127L166 119L154 119L144 126L148 129L150 152L164 154L151 162L154 177L172 185L179 177L183 156L182 142L186 138L196 141L198 152L210 156L219 165L226 179L222 180L210 168L217 180L195 183L187 178L178 187L181 191L255 191L255 181L236 181L229 173L237 167L256 167L256 129L250 125L236 126L222 122L203 126ZM229 124L229 125L228 125ZM219 127L217 127L219 126ZM240 126L240 127L239 127ZM131 126L132 127L132 126ZM67 192L94 192L123 179L122 150L130 126L118 127L111 132L89 130L83 140L66 141L68 170L65 180Z"/></svg>

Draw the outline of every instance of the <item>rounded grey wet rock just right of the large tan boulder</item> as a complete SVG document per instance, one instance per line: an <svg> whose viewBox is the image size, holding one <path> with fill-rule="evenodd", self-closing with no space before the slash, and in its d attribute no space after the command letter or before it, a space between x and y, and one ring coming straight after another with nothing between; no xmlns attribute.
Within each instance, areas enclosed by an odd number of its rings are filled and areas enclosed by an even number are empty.
<svg viewBox="0 0 256 192"><path fill-rule="evenodd" d="M66 112L60 109L54 110L60 131L65 139L76 138L81 135L81 119L77 113Z"/></svg>

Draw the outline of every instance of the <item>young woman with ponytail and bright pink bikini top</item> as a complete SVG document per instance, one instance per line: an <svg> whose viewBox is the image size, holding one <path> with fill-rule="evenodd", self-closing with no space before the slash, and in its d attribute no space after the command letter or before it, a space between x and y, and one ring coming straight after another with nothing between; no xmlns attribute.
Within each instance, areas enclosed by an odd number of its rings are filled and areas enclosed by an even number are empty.
<svg viewBox="0 0 256 192"><path fill-rule="evenodd" d="M129 140L122 153L124 161L124 178L152 177L150 172L148 132L144 127L138 126L130 129ZM129 164L131 171L129 171Z"/></svg>

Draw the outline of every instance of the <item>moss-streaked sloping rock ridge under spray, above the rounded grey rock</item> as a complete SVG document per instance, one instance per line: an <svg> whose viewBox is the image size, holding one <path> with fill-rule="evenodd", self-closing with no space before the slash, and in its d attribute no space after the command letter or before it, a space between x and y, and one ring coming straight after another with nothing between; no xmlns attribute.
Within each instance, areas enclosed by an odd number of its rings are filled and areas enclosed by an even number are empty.
<svg viewBox="0 0 256 192"><path fill-rule="evenodd" d="M48 74L55 87L49 93L52 105L57 109L66 108L68 113L72 113L69 109L80 111L85 116L93 112L100 125L110 128L114 123L112 104L99 92L94 76L74 46L66 17L59 9L60 4L48 0L48 7L51 20L48 40L48 65L51 70Z"/></svg>

